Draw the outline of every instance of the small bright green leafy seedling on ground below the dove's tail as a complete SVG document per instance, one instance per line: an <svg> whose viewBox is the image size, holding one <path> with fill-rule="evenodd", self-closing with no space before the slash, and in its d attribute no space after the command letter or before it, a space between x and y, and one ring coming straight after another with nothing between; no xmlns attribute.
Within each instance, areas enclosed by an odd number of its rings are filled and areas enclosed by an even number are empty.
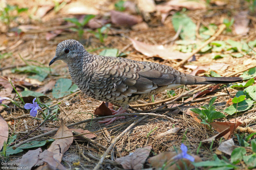
<svg viewBox="0 0 256 170"><path fill-rule="evenodd" d="M211 98L208 106L206 104L204 106L201 106L202 110L198 108L193 108L190 110L199 115L199 117L203 120L202 123L211 123L214 119L225 117L223 113L217 112L215 106L212 105L216 99L217 97Z"/></svg>

